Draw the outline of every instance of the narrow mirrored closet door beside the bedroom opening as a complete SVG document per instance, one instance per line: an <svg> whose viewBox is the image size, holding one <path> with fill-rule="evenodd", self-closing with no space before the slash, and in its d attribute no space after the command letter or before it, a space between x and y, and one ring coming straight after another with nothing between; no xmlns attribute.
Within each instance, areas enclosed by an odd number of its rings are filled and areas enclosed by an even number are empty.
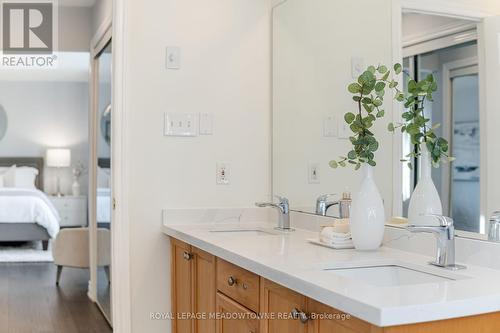
<svg viewBox="0 0 500 333"><path fill-rule="evenodd" d="M97 301L111 320L111 42L98 55Z"/></svg>

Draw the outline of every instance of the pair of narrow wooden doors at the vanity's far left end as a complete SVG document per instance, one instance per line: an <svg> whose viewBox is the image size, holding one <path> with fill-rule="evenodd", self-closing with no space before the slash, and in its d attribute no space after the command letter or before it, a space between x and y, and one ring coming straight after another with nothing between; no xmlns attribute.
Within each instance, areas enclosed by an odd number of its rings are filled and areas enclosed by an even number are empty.
<svg viewBox="0 0 500 333"><path fill-rule="evenodd" d="M215 333L215 257L173 238L171 247L172 331Z"/></svg>

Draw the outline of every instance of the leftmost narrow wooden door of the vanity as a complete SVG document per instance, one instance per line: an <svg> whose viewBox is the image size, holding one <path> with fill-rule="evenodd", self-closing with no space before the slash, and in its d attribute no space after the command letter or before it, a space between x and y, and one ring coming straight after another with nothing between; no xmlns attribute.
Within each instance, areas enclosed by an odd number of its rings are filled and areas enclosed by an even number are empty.
<svg viewBox="0 0 500 333"><path fill-rule="evenodd" d="M191 246L171 238L172 244L172 332L193 333L193 270Z"/></svg>

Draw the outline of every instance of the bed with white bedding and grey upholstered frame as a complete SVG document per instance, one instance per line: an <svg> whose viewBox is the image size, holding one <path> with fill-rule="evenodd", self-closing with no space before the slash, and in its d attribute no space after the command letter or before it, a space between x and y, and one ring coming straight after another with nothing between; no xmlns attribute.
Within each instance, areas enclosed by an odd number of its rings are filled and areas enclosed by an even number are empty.
<svg viewBox="0 0 500 333"><path fill-rule="evenodd" d="M14 165L13 183L9 169ZM43 166L43 158L0 158L0 242L42 241L46 250L48 241L57 235L59 214L39 190ZM26 177L30 173L31 179Z"/></svg>

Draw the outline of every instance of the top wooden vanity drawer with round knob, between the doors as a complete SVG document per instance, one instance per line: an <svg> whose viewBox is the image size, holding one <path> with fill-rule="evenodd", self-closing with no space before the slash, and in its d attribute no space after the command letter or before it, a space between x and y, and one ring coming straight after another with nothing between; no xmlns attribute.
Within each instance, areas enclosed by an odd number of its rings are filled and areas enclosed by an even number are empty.
<svg viewBox="0 0 500 333"><path fill-rule="evenodd" d="M259 276L217 258L217 289L252 311L259 311Z"/></svg>

